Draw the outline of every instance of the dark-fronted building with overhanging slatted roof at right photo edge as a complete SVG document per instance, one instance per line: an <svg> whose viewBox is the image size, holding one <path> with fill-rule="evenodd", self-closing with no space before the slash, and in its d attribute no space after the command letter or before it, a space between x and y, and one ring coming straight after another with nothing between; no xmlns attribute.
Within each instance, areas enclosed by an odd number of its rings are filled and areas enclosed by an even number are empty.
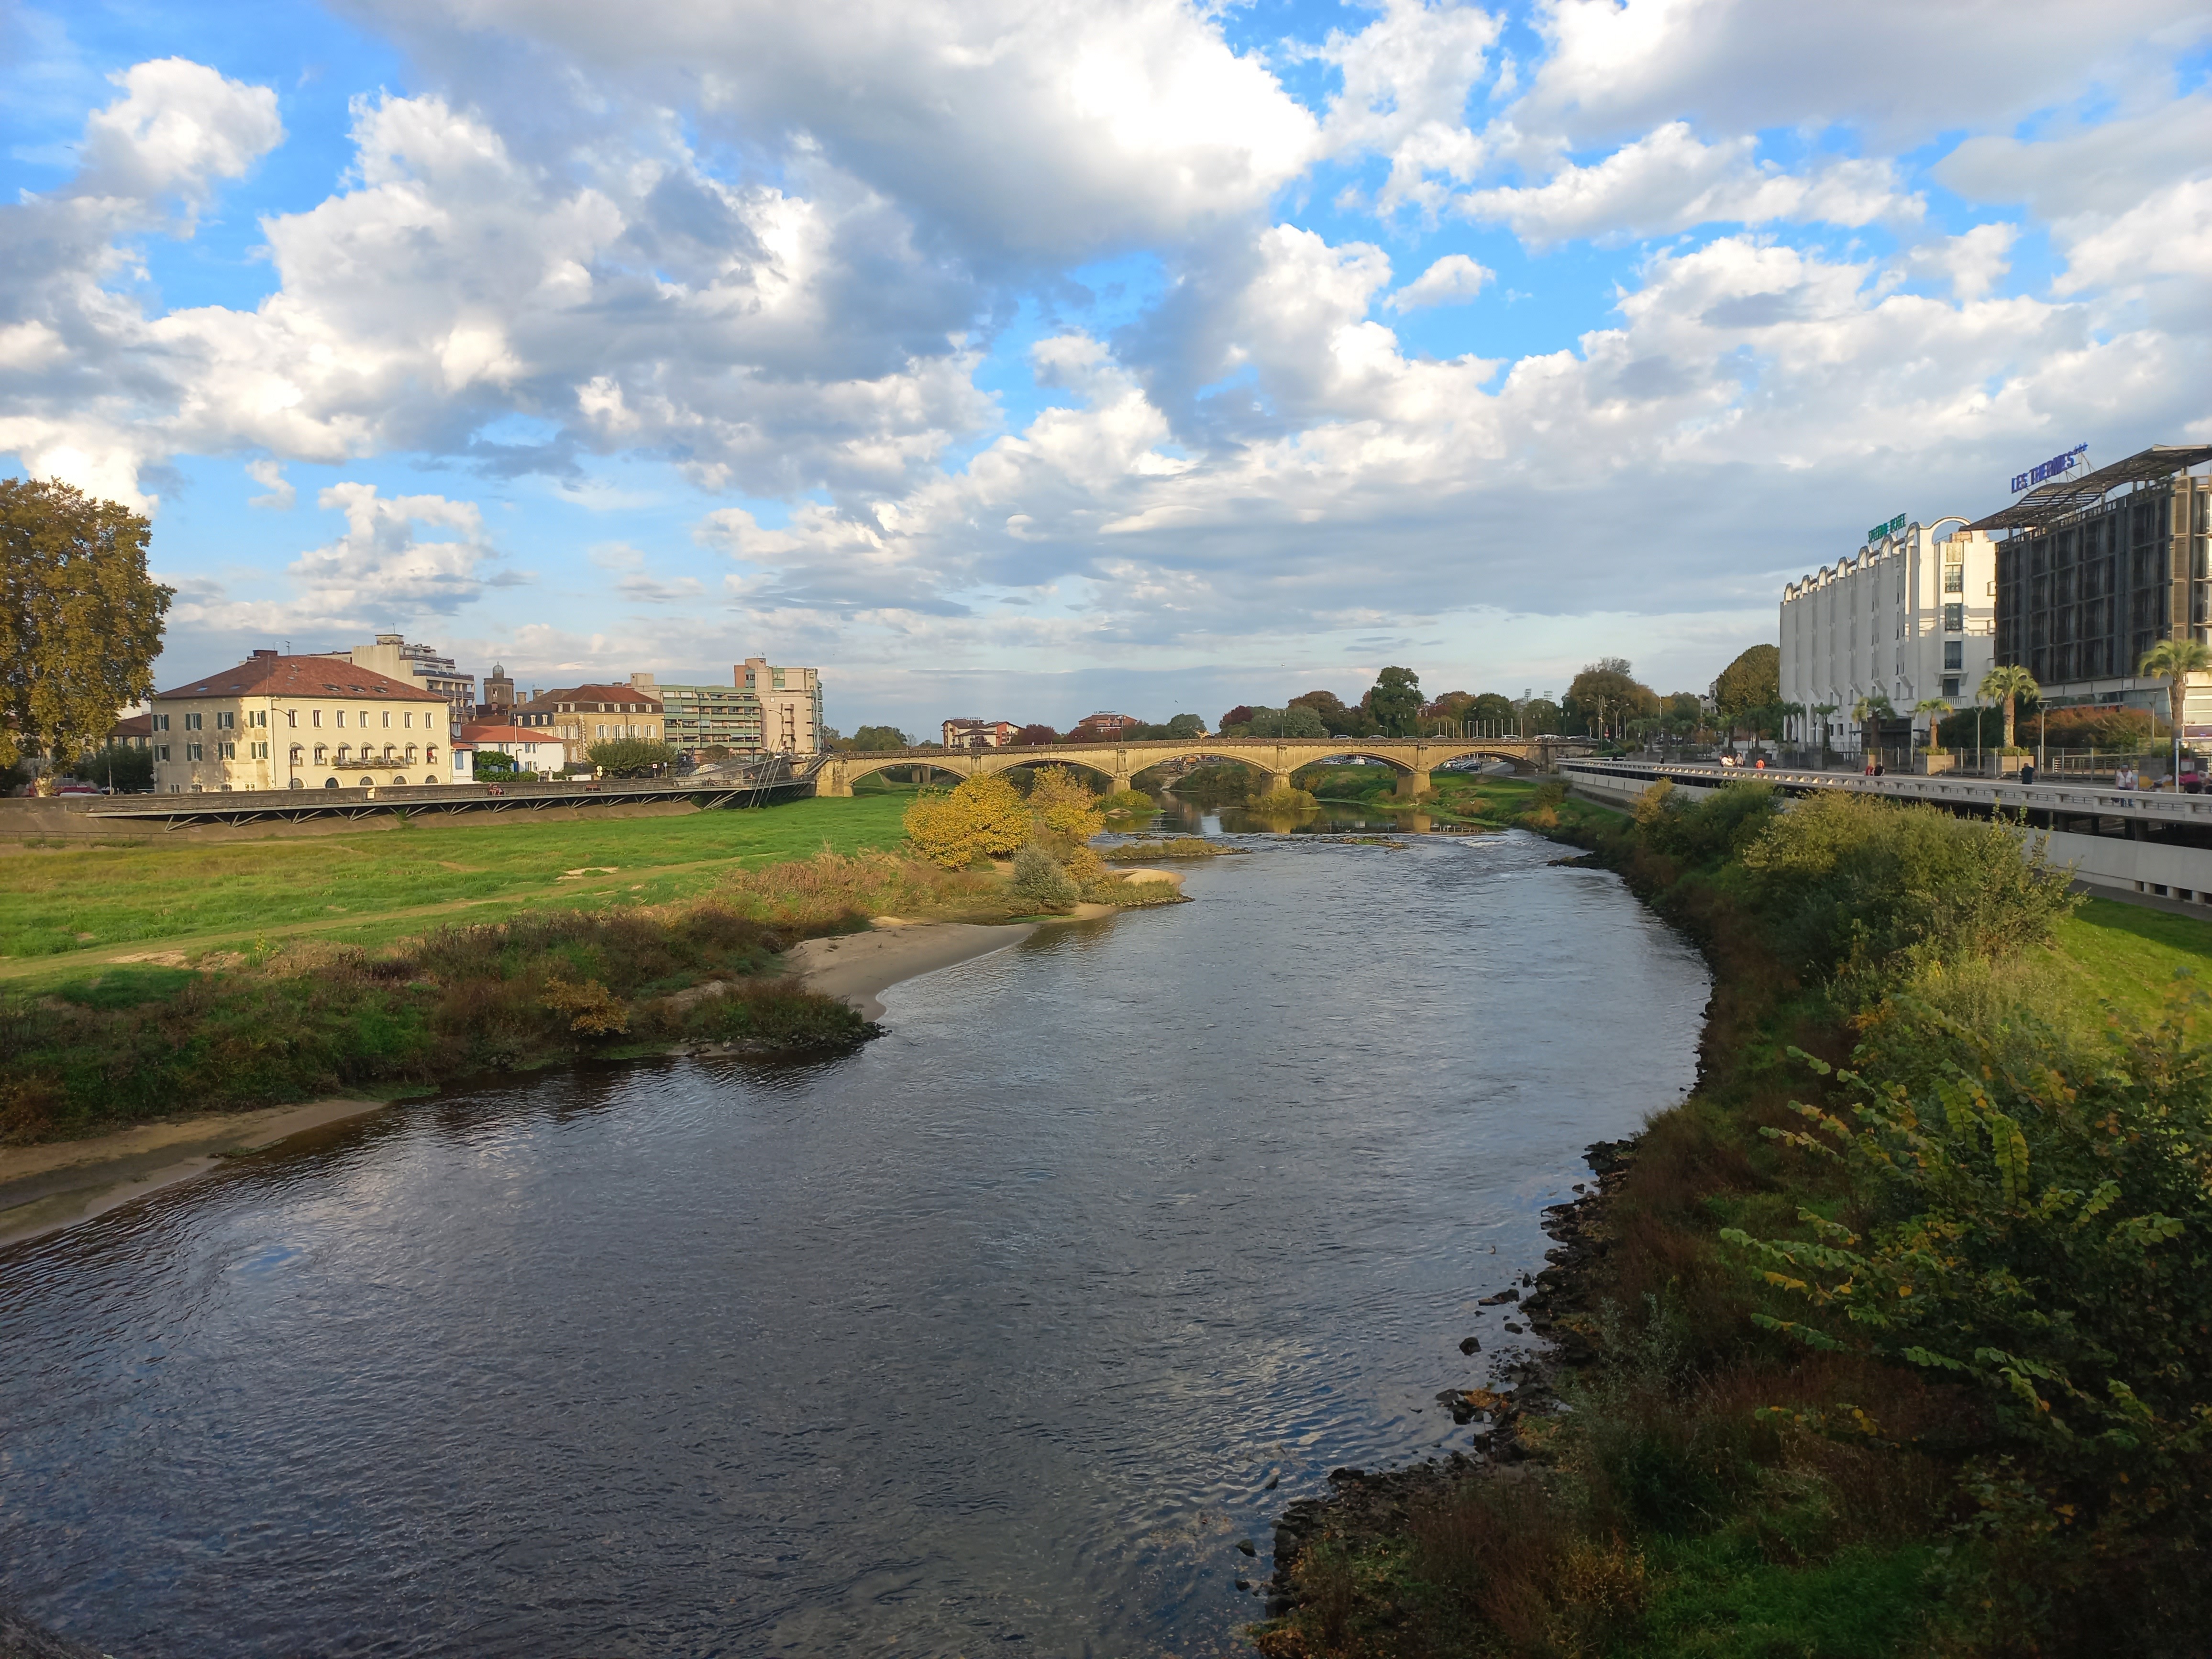
<svg viewBox="0 0 2212 1659"><path fill-rule="evenodd" d="M2143 449L2031 489L1975 524L1997 542L1997 661L2020 664L2048 708L2143 708L2163 679L2137 672L2159 639L2212 644L2212 445ZM2183 726L2212 737L2212 677L2192 679Z"/></svg>

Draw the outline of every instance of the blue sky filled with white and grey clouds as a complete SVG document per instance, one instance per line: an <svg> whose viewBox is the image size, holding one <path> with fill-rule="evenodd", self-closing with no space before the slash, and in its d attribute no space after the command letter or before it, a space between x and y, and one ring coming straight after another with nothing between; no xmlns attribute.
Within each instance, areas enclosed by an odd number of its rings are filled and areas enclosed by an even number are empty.
<svg viewBox="0 0 2212 1659"><path fill-rule="evenodd" d="M2201 0L0 0L0 473L400 630L1068 726L1597 657L2212 438Z"/></svg>

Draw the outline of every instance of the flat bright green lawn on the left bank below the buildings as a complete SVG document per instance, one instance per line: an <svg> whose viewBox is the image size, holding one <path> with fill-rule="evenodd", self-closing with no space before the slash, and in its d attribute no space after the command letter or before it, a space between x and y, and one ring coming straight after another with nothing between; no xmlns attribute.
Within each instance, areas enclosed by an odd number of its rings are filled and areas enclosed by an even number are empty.
<svg viewBox="0 0 2212 1659"><path fill-rule="evenodd" d="M142 945L208 949L316 931L374 942L434 907L657 905L734 865L900 843L902 794L670 818L358 830L268 841L155 841L0 856L0 978L53 978ZM588 869L586 876L566 876Z"/></svg>

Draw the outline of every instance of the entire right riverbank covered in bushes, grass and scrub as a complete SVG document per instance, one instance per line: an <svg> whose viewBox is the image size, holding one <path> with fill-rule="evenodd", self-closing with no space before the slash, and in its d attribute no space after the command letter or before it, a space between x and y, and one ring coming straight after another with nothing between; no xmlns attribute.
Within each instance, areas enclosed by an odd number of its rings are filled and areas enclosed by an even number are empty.
<svg viewBox="0 0 2212 1659"><path fill-rule="evenodd" d="M2197 1652L2212 927L1924 810L1524 818L1699 938L1703 1079L1546 1274L1573 1409L1354 1484L1261 1650Z"/></svg>

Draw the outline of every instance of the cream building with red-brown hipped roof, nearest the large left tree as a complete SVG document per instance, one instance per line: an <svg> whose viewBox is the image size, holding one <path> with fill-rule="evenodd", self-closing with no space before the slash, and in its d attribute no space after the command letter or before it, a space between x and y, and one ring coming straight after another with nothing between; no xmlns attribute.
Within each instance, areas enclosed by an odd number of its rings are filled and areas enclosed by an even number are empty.
<svg viewBox="0 0 2212 1659"><path fill-rule="evenodd" d="M155 692L157 794L451 783L451 703L343 657L257 650Z"/></svg>

